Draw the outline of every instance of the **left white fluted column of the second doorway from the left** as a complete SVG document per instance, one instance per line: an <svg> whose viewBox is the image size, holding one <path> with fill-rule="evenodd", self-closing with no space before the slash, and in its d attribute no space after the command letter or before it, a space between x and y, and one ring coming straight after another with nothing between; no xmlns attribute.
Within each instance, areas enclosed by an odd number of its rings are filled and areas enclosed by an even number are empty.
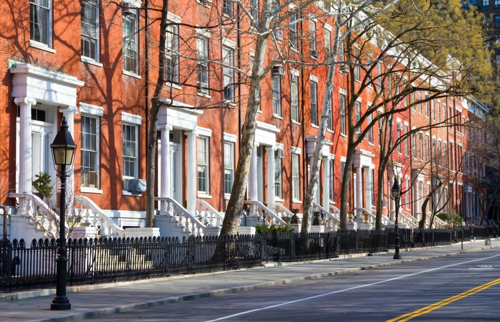
<svg viewBox="0 0 500 322"><path fill-rule="evenodd" d="M160 139L161 139L161 147L160 147L160 168L159 171L161 177L160 179L160 197L172 197L172 184L170 178L170 130L171 126L166 125L160 129ZM160 212L165 212L166 210L166 202L160 202Z"/></svg>

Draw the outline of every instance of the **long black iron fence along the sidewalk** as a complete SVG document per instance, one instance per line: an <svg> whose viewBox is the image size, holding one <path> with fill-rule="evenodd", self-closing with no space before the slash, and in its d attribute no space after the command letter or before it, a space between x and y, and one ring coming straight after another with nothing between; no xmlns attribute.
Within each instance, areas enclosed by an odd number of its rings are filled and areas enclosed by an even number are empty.
<svg viewBox="0 0 500 322"><path fill-rule="evenodd" d="M498 227L464 227L464 240L498 236ZM399 229L401 248L450 245L458 229ZM178 238L69 239L67 283L223 271L269 261L326 259L394 248L394 229ZM56 239L0 240L0 291L54 287Z"/></svg>

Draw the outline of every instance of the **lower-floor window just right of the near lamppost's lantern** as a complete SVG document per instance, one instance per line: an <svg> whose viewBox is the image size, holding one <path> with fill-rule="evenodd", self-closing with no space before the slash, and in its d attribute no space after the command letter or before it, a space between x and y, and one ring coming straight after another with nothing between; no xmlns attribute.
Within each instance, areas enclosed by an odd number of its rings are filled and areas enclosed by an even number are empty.
<svg viewBox="0 0 500 322"><path fill-rule="evenodd" d="M82 187L99 188L97 170L99 155L97 140L99 120L97 117L82 115L81 181Z"/></svg>

